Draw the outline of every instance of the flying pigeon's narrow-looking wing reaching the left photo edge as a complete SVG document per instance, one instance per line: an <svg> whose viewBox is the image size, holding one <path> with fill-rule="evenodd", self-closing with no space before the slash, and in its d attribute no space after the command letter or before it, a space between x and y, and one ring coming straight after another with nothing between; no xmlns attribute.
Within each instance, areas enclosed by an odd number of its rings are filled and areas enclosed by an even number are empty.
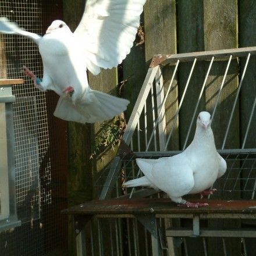
<svg viewBox="0 0 256 256"><path fill-rule="evenodd" d="M0 17L0 32L3 34L17 34L29 37L34 42L40 40L41 36L38 34L27 32L23 30L15 22L10 22L6 17Z"/></svg>

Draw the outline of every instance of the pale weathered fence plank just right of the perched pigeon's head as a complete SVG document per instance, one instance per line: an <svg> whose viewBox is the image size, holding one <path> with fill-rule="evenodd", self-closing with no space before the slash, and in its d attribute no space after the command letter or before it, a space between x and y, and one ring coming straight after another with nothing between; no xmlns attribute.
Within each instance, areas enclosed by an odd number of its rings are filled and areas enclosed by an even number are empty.
<svg viewBox="0 0 256 256"><path fill-rule="evenodd" d="M236 0L216 0L204 1L204 44L205 51L214 49L236 48L237 40L237 1ZM221 85L223 74L227 62L215 62L209 74L209 80L205 90L205 106L207 111L211 112L214 108L216 95ZM237 60L230 64L227 73L225 87L223 88L219 105L216 109L212 130L215 135L216 147L220 148L223 142L223 132L226 131L227 122L233 106L235 93L239 85ZM239 102L232 119L232 129L227 137L225 148L239 148ZM234 174L235 175L235 174ZM218 187L216 187L218 189ZM216 193L215 197L220 198L221 193ZM222 194L222 198L228 195ZM239 198L239 194L232 193L232 199ZM222 220L208 221L209 227L240 227L240 221ZM241 243L239 239L225 239L226 255L241 255ZM208 255L219 255L223 253L221 238L208 239ZM222 251L222 252L220 252Z"/></svg>

